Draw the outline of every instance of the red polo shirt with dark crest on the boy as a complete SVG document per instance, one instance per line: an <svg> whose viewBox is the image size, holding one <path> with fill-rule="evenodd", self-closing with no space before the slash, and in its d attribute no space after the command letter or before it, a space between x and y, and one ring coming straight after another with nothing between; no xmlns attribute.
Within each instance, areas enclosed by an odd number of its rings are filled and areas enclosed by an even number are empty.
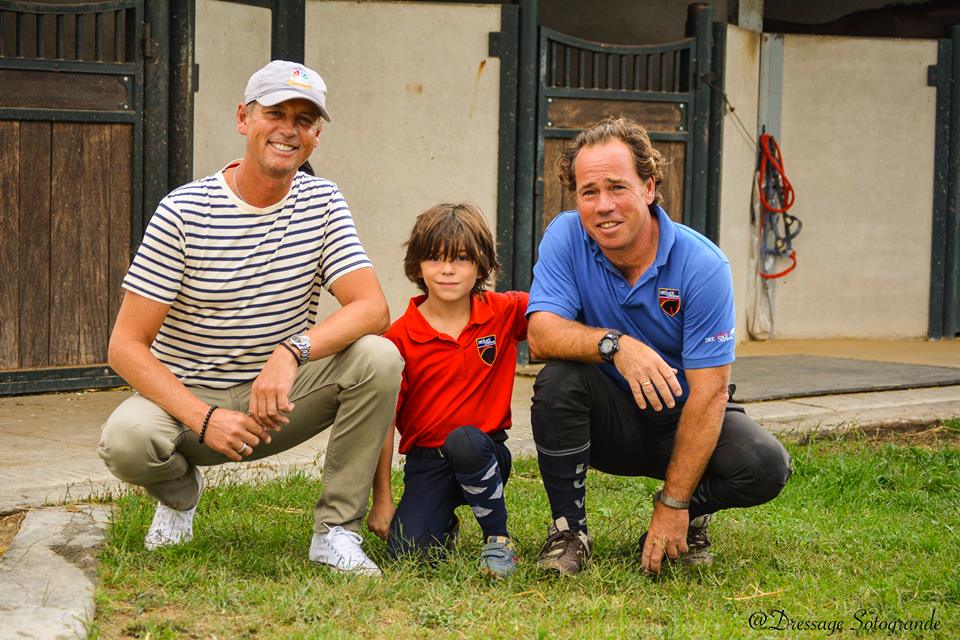
<svg viewBox="0 0 960 640"><path fill-rule="evenodd" d="M451 338L430 326L410 299L386 337L406 361L397 430L400 453L413 446L439 447L457 427L484 433L510 428L510 399L517 342L527 339L527 299L522 291L472 295L470 321Z"/></svg>

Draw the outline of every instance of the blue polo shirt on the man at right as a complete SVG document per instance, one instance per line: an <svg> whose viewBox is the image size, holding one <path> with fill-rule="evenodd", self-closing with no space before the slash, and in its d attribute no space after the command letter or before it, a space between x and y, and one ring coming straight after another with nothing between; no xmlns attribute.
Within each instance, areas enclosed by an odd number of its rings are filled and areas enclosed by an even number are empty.
<svg viewBox="0 0 960 640"><path fill-rule="evenodd" d="M633 287L587 235L576 211L554 218L533 268L527 315L549 311L639 339L679 371L683 400L686 369L734 360L733 279L715 244L659 206L651 210L660 222L657 257ZM600 367L629 391L616 367Z"/></svg>

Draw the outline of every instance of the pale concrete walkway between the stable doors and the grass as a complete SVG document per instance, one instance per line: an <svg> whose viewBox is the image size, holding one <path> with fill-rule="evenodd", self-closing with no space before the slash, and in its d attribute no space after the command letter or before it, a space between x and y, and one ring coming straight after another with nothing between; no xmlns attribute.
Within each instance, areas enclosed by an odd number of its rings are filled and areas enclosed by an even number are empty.
<svg viewBox="0 0 960 640"><path fill-rule="evenodd" d="M744 355L806 353L868 360L960 366L960 341L823 341L751 343ZM515 455L533 455L530 396L533 378L517 376ZM120 484L96 455L100 425L127 391L0 398L0 515L30 509L20 533L0 559L0 640L74 638L92 616L94 548L107 507L62 505L91 495L112 495ZM745 405L774 432L809 432L851 426L924 424L960 416L960 386L828 395ZM319 473L325 438L269 461L224 465L245 476L272 476L293 467ZM12 587L12 588L11 588Z"/></svg>

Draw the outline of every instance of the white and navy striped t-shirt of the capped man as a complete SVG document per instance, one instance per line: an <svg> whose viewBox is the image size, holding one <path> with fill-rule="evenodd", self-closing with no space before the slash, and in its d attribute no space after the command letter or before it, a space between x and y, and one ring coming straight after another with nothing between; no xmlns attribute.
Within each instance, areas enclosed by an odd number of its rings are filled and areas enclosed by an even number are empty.
<svg viewBox="0 0 960 640"><path fill-rule="evenodd" d="M297 173L259 209L221 170L160 202L123 287L170 305L150 347L160 362L184 384L222 389L316 323L321 288L370 266L334 183Z"/></svg>

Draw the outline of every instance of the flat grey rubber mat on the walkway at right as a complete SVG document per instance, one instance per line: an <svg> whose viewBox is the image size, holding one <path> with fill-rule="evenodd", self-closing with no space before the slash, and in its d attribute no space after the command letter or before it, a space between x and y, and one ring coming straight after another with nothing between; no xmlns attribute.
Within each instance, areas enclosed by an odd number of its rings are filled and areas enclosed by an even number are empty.
<svg viewBox="0 0 960 640"><path fill-rule="evenodd" d="M749 356L733 363L730 381L737 385L734 401L755 402L955 385L960 384L960 366L932 367L824 356Z"/></svg>

